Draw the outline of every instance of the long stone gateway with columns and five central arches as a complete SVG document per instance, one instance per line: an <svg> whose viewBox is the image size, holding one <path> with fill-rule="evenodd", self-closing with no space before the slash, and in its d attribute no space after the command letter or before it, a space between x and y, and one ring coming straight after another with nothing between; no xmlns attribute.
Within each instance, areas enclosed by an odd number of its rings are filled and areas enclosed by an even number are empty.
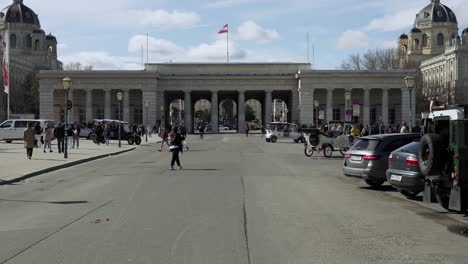
<svg viewBox="0 0 468 264"><path fill-rule="evenodd" d="M250 100L261 105L262 124L273 120L275 100L284 102L289 122L314 124L353 118L363 124L397 124L415 119L404 84L404 78L414 74L414 70L317 71L300 63L164 63L147 64L145 71L42 71L40 111L41 118L64 119L61 79L70 77L72 122L118 119L117 92L121 91L124 121L169 123L170 105L182 100L183 124L189 132L197 125L199 116L194 109L201 100L209 101L210 117L205 121L214 132L221 125L219 113L226 100L236 106L239 132L251 121L246 120ZM346 91L351 92L349 101ZM412 100L414 106L414 97ZM319 102L317 108L314 101ZM352 114L351 109L355 109Z"/></svg>

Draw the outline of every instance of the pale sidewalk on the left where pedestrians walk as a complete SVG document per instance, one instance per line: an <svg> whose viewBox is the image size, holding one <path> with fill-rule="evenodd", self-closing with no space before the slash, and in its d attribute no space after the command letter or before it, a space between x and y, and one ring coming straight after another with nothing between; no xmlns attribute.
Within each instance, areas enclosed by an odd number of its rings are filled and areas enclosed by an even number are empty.
<svg viewBox="0 0 468 264"><path fill-rule="evenodd" d="M156 143L160 141L157 136L142 138L140 146ZM11 144L0 142L0 185L9 184L25 180L43 173L58 169L68 168L81 163L105 158L129 152L138 148L136 145L128 145L122 141L122 148L118 147L118 141L111 141L109 146L96 145L90 140L80 140L79 149L69 149L68 159L64 159L63 153L58 153L57 141L53 141L52 153L43 152L43 148L34 149L33 158L26 157L26 149L22 141L15 141Z"/></svg>

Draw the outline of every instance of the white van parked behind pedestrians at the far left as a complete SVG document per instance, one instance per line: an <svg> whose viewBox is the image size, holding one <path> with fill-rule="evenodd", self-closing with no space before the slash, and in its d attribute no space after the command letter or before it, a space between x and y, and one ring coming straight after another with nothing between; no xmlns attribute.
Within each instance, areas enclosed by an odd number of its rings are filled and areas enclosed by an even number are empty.
<svg viewBox="0 0 468 264"><path fill-rule="evenodd" d="M54 121L46 119L11 119L6 120L0 124L0 140L4 140L7 143L11 143L14 140L23 140L24 130L28 127L28 123L33 123L33 127L36 123L41 125L41 128L45 124L49 124L49 128L55 127Z"/></svg>

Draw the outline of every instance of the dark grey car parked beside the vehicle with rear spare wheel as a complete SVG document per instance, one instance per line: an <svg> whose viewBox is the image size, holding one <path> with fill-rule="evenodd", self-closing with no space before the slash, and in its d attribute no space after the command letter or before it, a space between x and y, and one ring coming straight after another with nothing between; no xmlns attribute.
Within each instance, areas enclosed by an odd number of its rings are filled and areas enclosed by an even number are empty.
<svg viewBox="0 0 468 264"><path fill-rule="evenodd" d="M424 190L424 175L418 161L420 146L419 142L412 142L393 151L388 158L387 181L409 198Z"/></svg>

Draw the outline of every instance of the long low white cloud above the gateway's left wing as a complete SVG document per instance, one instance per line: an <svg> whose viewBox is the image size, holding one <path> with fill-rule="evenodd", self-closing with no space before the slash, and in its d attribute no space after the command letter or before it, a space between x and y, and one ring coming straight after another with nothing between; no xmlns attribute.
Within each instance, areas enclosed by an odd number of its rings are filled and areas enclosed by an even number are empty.
<svg viewBox="0 0 468 264"><path fill-rule="evenodd" d="M95 70L141 70L142 65L137 57L113 56L107 52L79 52L61 56L64 64L80 62L84 65L92 65Z"/></svg>

